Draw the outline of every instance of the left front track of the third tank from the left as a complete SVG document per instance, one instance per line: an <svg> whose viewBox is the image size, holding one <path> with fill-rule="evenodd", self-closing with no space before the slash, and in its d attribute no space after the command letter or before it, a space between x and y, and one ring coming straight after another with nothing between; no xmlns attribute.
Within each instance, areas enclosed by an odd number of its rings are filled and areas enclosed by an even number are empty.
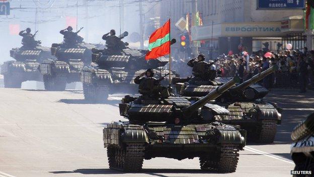
<svg viewBox="0 0 314 177"><path fill-rule="evenodd" d="M83 92L86 100L103 102L108 100L109 87L105 84L83 84Z"/></svg>

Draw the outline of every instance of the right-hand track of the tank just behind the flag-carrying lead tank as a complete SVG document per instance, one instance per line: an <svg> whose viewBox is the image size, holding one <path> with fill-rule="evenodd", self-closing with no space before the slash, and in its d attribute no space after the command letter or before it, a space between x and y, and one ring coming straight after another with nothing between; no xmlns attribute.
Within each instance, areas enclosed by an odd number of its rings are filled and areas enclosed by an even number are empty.
<svg viewBox="0 0 314 177"><path fill-rule="evenodd" d="M262 126L258 128L258 142L273 143L277 132L277 121L262 121Z"/></svg>

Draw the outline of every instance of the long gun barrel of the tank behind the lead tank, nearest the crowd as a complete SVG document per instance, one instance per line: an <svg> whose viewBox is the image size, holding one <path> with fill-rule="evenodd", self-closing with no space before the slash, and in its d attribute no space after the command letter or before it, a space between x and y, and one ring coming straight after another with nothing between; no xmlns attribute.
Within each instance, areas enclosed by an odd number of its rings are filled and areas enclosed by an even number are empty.
<svg viewBox="0 0 314 177"><path fill-rule="evenodd" d="M266 76L272 74L274 71L276 71L278 69L278 66L272 66L271 68L253 76L251 79L243 82L242 84L237 85L236 87L232 88L232 91L241 91L246 89L247 87L249 87L250 85L262 80L263 78L265 78Z"/></svg>

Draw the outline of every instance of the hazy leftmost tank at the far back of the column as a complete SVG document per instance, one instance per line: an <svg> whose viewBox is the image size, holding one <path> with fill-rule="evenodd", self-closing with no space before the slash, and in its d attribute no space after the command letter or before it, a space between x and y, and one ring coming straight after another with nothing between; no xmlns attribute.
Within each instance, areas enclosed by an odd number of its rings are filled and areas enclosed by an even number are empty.
<svg viewBox="0 0 314 177"><path fill-rule="evenodd" d="M50 48L40 46L40 43L40 41L34 41L31 47L23 45L21 48L10 50L10 56L15 61L4 62L1 69L5 88L21 88L24 81L42 81L38 66L52 55Z"/></svg>

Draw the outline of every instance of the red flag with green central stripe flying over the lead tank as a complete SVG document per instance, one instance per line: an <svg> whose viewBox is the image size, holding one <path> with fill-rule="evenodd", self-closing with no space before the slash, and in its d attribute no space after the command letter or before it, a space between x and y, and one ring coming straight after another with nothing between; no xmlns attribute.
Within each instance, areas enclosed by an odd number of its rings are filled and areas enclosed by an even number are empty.
<svg viewBox="0 0 314 177"><path fill-rule="evenodd" d="M145 60L158 58L170 53L170 20L150 35L148 50Z"/></svg>

